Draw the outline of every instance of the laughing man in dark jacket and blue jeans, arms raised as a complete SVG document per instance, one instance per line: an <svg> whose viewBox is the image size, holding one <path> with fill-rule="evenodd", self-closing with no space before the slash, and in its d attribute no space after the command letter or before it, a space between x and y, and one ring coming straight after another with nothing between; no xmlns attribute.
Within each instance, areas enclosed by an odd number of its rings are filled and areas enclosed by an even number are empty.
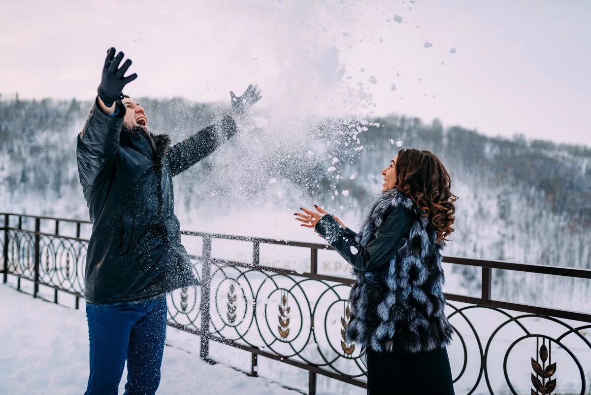
<svg viewBox="0 0 591 395"><path fill-rule="evenodd" d="M77 139L77 160L92 221L85 272L90 375L86 395L154 394L166 331L166 293L199 284L180 242L172 177L236 133L235 116L261 99L252 85L230 92L230 114L170 147L152 135L138 102L122 95L131 66L108 50L96 103Z"/></svg>

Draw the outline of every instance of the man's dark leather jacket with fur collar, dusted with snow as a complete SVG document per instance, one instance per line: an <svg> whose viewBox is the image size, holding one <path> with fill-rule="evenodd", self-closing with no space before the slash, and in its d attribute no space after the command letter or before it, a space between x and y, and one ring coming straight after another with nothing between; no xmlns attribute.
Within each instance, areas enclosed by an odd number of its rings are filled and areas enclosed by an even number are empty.
<svg viewBox="0 0 591 395"><path fill-rule="evenodd" d="M130 302L199 284L181 245L173 180L236 132L225 116L170 147L167 135L123 126L96 104L77 139L80 183L93 224L86 253L85 297Z"/></svg>

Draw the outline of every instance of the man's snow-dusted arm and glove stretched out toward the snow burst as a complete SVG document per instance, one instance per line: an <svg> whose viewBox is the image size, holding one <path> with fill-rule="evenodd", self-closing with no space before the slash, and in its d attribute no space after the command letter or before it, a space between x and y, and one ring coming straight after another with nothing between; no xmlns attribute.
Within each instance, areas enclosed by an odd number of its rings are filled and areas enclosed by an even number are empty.
<svg viewBox="0 0 591 395"><path fill-rule="evenodd" d="M246 110L262 98L261 91L256 88L256 85L249 85L246 92L240 97L237 97L234 92L230 92L230 98L232 99L230 115L222 118L219 125L204 128L186 140L170 147L167 157L173 176L189 169L189 167L207 157L236 133L234 117L242 116Z"/></svg>

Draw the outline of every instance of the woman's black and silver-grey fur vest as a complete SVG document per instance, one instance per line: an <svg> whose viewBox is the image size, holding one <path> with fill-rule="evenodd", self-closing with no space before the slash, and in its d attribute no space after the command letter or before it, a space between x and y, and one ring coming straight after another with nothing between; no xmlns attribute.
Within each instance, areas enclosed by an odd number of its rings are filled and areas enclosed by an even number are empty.
<svg viewBox="0 0 591 395"><path fill-rule="evenodd" d="M378 352L444 348L450 343L452 327L444 313L441 290L443 245L436 244L437 233L428 218L421 219L418 206L402 192L388 190L370 205L356 240L366 245L388 209L398 205L411 218L408 239L389 264L376 271L353 269L357 279L349 296L346 339Z"/></svg>

